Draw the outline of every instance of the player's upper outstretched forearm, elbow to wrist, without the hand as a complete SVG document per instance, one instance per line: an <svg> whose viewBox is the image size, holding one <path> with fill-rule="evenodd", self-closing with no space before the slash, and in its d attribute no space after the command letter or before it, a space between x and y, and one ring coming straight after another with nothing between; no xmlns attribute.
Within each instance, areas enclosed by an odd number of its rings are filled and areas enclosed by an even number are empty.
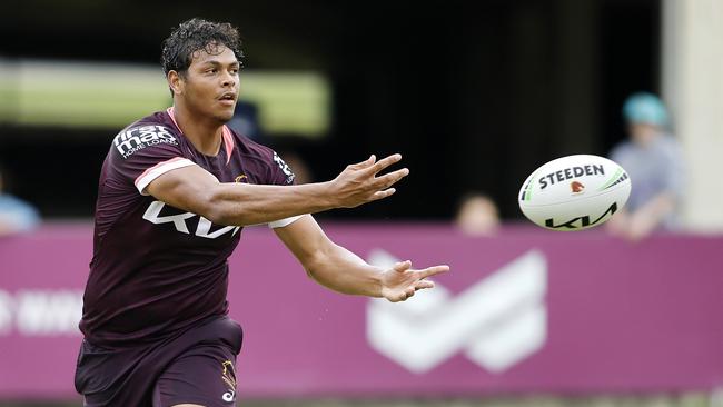
<svg viewBox="0 0 723 407"><path fill-rule="evenodd" d="M300 186L219 183L209 193L208 217L219 225L266 224L338 206L329 182Z"/></svg>

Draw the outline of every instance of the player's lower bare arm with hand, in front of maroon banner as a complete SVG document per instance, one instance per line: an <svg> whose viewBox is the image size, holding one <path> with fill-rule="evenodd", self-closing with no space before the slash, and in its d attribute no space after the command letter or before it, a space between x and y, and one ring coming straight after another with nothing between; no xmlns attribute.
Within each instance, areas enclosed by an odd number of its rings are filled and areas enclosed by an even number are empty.
<svg viewBox="0 0 723 407"><path fill-rule="evenodd" d="M449 269L447 266L435 266L415 270L410 261L398 262L388 270L370 266L334 244L310 215L274 231L301 262L309 277L343 294L404 301L416 290L434 287L434 282L425 278Z"/></svg>

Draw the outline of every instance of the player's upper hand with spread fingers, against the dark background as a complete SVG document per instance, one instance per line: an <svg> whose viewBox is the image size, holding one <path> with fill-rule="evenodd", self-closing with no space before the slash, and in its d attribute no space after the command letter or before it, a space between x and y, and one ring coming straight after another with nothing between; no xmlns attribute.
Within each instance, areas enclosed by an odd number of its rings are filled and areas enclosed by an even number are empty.
<svg viewBox="0 0 723 407"><path fill-rule="evenodd" d="M365 161L347 166L330 181L333 199L338 202L338 207L354 208L392 196L396 191L392 186L406 177L409 170L402 168L380 176L377 173L399 160L402 160L399 153L378 161L372 155Z"/></svg>

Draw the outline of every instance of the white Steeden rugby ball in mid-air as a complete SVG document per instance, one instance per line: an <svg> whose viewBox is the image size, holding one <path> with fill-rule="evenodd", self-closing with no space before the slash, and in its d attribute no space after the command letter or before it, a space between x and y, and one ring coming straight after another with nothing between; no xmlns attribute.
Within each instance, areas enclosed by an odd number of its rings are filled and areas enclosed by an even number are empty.
<svg viewBox="0 0 723 407"><path fill-rule="evenodd" d="M583 230L620 211L630 191L631 179L617 162L591 155L567 156L527 177L519 189L519 209L544 228Z"/></svg>

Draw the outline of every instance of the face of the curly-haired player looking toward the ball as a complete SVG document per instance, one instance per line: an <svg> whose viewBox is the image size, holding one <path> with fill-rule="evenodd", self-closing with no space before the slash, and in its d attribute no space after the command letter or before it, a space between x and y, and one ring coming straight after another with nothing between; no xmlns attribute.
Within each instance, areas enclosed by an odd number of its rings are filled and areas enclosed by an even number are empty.
<svg viewBox="0 0 723 407"><path fill-rule="evenodd" d="M175 97L191 113L225 123L234 117L240 64L230 49L220 46L216 51L195 52L186 73L174 77L169 72L169 80Z"/></svg>

